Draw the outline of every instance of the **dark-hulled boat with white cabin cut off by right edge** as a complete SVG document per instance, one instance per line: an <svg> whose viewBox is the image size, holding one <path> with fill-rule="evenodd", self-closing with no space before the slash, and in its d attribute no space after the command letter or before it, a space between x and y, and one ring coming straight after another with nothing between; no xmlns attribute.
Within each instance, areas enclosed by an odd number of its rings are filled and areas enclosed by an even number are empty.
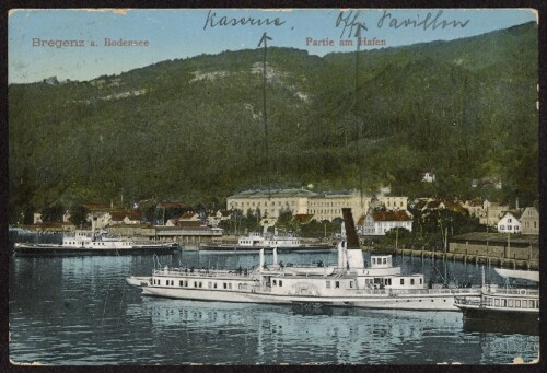
<svg viewBox="0 0 547 373"><path fill-rule="evenodd" d="M494 268L496 272L505 279L524 279L538 282L538 271L522 271ZM509 283L509 281L505 281ZM494 320L499 325L513 327L527 326L527 329L537 329L539 322L539 289L531 287L509 287L485 284L482 275L482 289L480 299L456 296L455 306L464 314L464 324L477 320L485 323Z"/></svg>

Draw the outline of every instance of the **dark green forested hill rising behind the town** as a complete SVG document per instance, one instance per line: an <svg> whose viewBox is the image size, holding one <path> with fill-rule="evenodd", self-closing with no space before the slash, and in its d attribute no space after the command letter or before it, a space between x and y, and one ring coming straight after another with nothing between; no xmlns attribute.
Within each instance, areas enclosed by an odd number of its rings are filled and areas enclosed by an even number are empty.
<svg viewBox="0 0 547 373"><path fill-rule="evenodd" d="M354 53L270 47L268 153L261 59L260 49L224 51L10 85L12 221L54 203L211 202L267 185L537 198L535 23L362 51L357 75ZM431 170L434 188L421 183ZM499 196L470 188L497 177Z"/></svg>

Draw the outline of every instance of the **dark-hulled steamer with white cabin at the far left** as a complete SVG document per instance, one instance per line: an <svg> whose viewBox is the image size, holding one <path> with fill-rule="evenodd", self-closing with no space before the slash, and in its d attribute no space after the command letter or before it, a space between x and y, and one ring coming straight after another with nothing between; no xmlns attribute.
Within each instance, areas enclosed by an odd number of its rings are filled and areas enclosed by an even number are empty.
<svg viewBox="0 0 547 373"><path fill-rule="evenodd" d="M106 232L75 231L65 234L60 244L15 243L14 253L26 255L128 255L162 254L178 249L176 243L135 243L108 237Z"/></svg>

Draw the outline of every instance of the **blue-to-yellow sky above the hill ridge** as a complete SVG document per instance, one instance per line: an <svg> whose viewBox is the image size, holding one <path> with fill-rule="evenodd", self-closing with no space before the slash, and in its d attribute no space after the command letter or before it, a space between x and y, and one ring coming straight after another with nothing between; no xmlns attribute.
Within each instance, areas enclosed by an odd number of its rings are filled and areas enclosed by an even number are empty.
<svg viewBox="0 0 547 373"><path fill-rule="evenodd" d="M255 24L242 24L242 18ZM226 25L226 20L237 22ZM268 46L324 56L356 50L357 28L362 38L375 40L359 46L366 50L457 39L531 21L537 21L531 9L18 9L8 20L8 81L54 75L86 81L170 59L256 48L264 33L271 38ZM106 38L141 43L113 46Z"/></svg>

